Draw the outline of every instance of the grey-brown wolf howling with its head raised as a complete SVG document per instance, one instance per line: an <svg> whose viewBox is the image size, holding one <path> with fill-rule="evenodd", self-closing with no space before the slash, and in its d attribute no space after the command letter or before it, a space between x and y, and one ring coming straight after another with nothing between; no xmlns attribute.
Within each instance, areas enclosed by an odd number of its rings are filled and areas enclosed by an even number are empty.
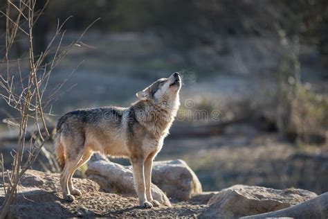
<svg viewBox="0 0 328 219"><path fill-rule="evenodd" d="M173 73L136 94L130 107L78 109L57 123L55 155L62 166L60 184L64 200L82 195L72 177L93 152L128 158L132 164L140 207L157 207L150 189L152 163L179 109L181 78Z"/></svg>

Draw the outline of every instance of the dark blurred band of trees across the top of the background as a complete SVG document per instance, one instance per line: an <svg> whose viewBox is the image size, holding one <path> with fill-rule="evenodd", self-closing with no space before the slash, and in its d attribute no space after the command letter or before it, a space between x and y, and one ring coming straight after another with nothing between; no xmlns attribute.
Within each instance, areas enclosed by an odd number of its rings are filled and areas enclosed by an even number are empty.
<svg viewBox="0 0 328 219"><path fill-rule="evenodd" d="M41 7L44 2L37 4ZM4 5L6 0L0 0ZM284 30L287 38L298 35L301 43L317 44L322 54L328 47L327 0L57 0L49 1L36 31L55 29L57 19L72 15L67 29L81 30L101 17L94 29L151 31L181 51L213 44L221 36L278 37L277 29ZM38 53L44 44L40 40Z"/></svg>

